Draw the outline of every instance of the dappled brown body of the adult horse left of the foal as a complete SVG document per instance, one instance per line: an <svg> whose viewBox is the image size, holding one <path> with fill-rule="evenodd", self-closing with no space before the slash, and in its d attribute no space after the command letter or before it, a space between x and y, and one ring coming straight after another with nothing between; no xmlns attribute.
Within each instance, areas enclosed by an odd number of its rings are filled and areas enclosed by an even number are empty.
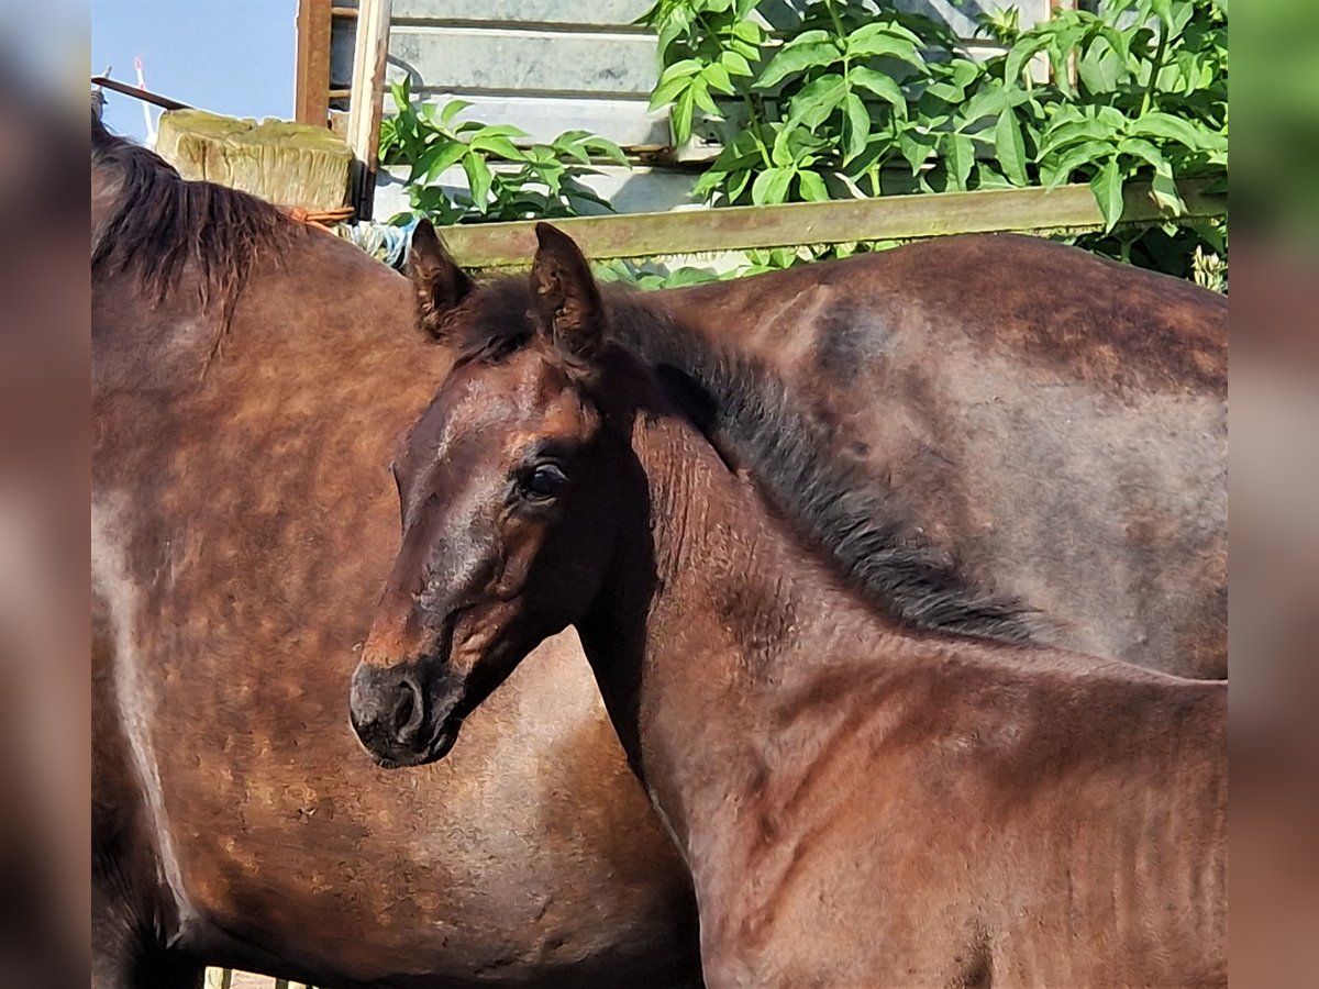
<svg viewBox="0 0 1319 989"><path fill-rule="evenodd" d="M223 336L195 257L164 305L96 273L94 985L694 980L689 881L571 636L462 765L363 758L338 684L397 546L392 435L450 359L405 278L248 208L210 231L276 231Z"/></svg>

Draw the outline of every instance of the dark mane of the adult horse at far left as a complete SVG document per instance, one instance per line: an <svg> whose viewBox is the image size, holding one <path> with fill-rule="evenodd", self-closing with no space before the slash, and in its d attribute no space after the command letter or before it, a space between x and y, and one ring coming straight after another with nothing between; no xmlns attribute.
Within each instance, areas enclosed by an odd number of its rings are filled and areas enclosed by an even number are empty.
<svg viewBox="0 0 1319 989"><path fill-rule="evenodd" d="M202 309L218 311L222 335L256 265L278 262L305 232L264 199L183 179L156 153L107 131L95 111L91 165L119 175L115 204L94 231L92 277L131 277L161 305L191 268Z"/></svg>

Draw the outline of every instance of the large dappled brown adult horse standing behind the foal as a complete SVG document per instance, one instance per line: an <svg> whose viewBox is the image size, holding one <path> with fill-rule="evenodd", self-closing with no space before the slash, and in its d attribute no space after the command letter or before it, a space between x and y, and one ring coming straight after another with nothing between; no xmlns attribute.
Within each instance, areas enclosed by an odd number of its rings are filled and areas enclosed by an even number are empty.
<svg viewBox="0 0 1319 989"><path fill-rule="evenodd" d="M397 551L390 438L450 368L427 332L470 277L421 251L414 320L406 278L92 128L95 984L173 989L203 964L335 986L694 978L690 881L571 633L446 765L377 771L348 725L340 674ZM947 280L917 278L913 256ZM1028 262L1049 281L1029 311L983 291ZM1221 665L1225 458L1217 422L1194 429L1219 397L1159 377L1217 360L1216 302L1018 239L811 270L656 298L795 375L847 452L889 477L886 510L1046 611L1050 634L1169 666L1200 629ZM794 299L810 302L795 328ZM1072 342L1037 357L1062 313ZM1013 330L968 331L944 380L934 330L960 327L952 315ZM1173 353L1158 375L1142 369L1146 326ZM1020 373L984 410L954 378L989 352ZM1121 380L1096 375L1096 352ZM921 394L968 405L934 417ZM1005 456L998 476L967 442L991 413L1014 450L1053 458L1053 483L1017 506L1020 464ZM1066 551L996 556L1046 533Z"/></svg>

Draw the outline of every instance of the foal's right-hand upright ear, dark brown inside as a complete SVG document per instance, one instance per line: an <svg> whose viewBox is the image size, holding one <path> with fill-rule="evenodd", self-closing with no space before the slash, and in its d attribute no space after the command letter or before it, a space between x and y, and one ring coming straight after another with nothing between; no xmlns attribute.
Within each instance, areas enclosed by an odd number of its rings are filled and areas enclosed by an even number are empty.
<svg viewBox="0 0 1319 989"><path fill-rule="evenodd" d="M539 245L532 264L532 295L541 330L572 360L588 361L604 343L604 303L591 266L572 239L536 224Z"/></svg>

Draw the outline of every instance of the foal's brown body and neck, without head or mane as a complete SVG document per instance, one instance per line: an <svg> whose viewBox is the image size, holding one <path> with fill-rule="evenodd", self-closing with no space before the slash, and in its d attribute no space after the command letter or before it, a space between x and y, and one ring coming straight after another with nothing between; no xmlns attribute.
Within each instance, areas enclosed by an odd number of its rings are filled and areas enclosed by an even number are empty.
<svg viewBox="0 0 1319 989"><path fill-rule="evenodd" d="M718 465L645 442L652 504L681 469L737 537L687 529L674 558L660 527L644 633L582 630L637 712L620 737L691 868L707 985L1227 984L1224 684L913 641L751 491L711 498Z"/></svg>

